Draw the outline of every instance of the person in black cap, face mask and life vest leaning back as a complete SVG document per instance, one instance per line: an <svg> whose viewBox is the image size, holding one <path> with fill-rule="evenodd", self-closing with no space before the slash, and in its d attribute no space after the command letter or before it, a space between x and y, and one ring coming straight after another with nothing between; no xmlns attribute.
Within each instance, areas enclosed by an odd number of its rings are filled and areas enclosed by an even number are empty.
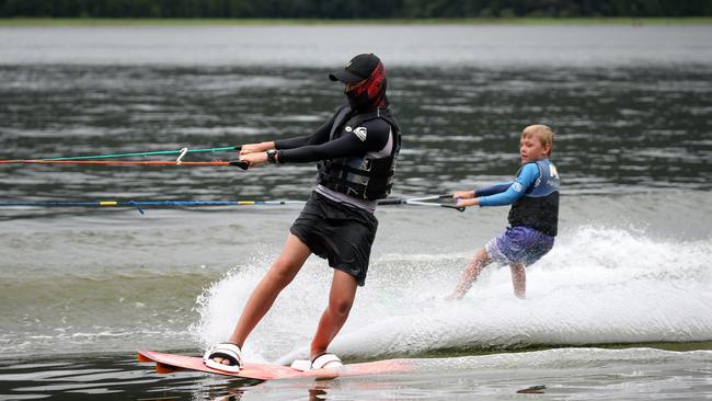
<svg viewBox="0 0 712 401"><path fill-rule="evenodd" d="M311 342L311 367L341 366L341 359L326 351L348 318L357 287L366 280L378 228L374 211L393 185L401 130L389 110L386 69L377 56L358 55L329 78L345 84L348 102L321 127L311 135L241 148L240 161L250 168L318 161L319 184L282 253L253 289L228 342L205 353L209 367L240 370L241 348L250 332L312 253L326 259L334 274L329 306Z"/></svg>

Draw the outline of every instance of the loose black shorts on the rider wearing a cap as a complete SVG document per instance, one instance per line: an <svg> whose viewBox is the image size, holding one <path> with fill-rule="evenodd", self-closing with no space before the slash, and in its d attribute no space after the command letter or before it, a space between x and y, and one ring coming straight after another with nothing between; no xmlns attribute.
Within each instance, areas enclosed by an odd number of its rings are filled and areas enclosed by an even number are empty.
<svg viewBox="0 0 712 401"><path fill-rule="evenodd" d="M289 232L333 268L366 282L378 219L372 213L312 192Z"/></svg>

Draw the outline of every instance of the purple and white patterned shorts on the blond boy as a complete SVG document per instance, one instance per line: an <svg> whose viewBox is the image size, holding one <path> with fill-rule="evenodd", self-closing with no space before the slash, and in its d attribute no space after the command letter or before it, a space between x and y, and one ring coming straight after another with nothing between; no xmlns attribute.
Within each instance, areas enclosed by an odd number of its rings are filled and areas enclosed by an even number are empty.
<svg viewBox="0 0 712 401"><path fill-rule="evenodd" d="M507 230L484 245L487 256L502 264L530 265L551 251L554 238L530 227L507 227Z"/></svg>

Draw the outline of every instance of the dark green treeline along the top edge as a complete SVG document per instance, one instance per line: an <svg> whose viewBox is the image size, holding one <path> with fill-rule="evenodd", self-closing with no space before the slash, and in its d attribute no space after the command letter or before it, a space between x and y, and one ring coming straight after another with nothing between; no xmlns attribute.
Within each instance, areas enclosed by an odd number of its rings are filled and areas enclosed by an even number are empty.
<svg viewBox="0 0 712 401"><path fill-rule="evenodd" d="M709 16L710 0L0 0L0 18Z"/></svg>

